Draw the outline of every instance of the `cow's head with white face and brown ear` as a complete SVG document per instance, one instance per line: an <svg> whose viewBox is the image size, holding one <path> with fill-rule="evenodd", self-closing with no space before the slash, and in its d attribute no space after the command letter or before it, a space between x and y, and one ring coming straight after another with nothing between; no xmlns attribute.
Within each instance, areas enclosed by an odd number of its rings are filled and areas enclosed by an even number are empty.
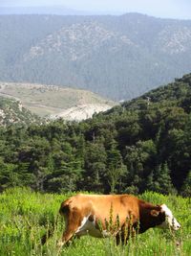
<svg viewBox="0 0 191 256"><path fill-rule="evenodd" d="M153 215L162 220L157 227L159 228L172 228L173 230L178 230L180 228L180 223L175 219L171 210L165 205L161 204L159 206L159 211L154 211Z"/></svg>

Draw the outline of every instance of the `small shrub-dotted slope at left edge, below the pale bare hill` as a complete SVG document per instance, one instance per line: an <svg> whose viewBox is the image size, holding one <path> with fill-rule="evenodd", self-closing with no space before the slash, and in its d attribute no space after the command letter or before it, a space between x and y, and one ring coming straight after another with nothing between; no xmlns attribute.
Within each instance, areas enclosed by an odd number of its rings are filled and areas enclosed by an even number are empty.
<svg viewBox="0 0 191 256"><path fill-rule="evenodd" d="M26 126L40 122L40 118L23 107L21 102L0 96L0 127L6 127L11 124Z"/></svg>

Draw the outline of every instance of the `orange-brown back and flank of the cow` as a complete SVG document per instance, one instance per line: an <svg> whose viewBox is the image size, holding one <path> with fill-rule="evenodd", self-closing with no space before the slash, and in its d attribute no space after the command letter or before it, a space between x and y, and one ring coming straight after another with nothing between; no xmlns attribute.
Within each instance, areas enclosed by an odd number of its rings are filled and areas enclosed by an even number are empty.
<svg viewBox="0 0 191 256"><path fill-rule="evenodd" d="M111 220L124 222L127 218L139 218L138 198L130 195L77 194L64 201L61 209L78 211L81 216L93 216L102 224Z"/></svg>

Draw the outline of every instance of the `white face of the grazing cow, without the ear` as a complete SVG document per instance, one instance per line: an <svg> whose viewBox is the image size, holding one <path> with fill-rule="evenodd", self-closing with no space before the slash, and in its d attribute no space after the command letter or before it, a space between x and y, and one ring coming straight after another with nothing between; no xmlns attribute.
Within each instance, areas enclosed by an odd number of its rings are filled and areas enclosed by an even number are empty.
<svg viewBox="0 0 191 256"><path fill-rule="evenodd" d="M171 210L165 205L161 205L161 211L165 213L166 220L159 225L161 228L173 228L174 230L178 230L180 228L180 223L174 218Z"/></svg>

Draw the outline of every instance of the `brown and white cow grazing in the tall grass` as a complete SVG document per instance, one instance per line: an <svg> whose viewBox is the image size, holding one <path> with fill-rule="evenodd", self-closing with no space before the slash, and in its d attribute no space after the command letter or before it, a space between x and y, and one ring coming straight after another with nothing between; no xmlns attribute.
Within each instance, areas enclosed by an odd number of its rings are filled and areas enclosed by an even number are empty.
<svg viewBox="0 0 191 256"><path fill-rule="evenodd" d="M131 195L77 194L61 203L59 213L66 222L59 246L87 234L96 238L113 235L118 244L150 227L180 228L165 204L153 205Z"/></svg>

